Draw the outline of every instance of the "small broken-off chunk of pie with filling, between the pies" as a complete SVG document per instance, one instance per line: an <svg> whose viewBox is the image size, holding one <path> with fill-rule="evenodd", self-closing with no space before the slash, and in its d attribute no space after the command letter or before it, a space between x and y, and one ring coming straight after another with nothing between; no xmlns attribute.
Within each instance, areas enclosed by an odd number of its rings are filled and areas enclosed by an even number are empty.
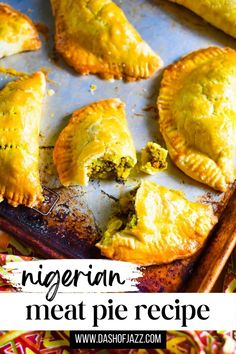
<svg viewBox="0 0 236 354"><path fill-rule="evenodd" d="M167 150L160 145L149 142L141 151L141 171L154 174L167 168Z"/></svg>

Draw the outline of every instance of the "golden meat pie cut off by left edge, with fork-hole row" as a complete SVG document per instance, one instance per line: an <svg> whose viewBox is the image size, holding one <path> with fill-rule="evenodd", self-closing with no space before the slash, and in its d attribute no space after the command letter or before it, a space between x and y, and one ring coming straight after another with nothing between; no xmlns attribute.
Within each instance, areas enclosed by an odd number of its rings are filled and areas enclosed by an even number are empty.
<svg viewBox="0 0 236 354"><path fill-rule="evenodd" d="M0 201L13 206L43 199L38 137L45 89L45 76L37 72L0 91Z"/></svg>

